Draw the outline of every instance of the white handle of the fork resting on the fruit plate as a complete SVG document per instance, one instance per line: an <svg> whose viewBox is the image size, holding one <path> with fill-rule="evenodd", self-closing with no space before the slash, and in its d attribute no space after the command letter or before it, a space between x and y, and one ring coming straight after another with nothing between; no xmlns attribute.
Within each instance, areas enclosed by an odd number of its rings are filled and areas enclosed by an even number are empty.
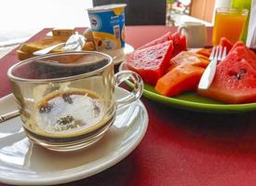
<svg viewBox="0 0 256 186"><path fill-rule="evenodd" d="M216 72L216 66L217 66L218 60L211 60L209 62L208 67L206 68L205 72L203 73L198 88L199 89L208 89L210 84L212 83L214 79L214 75Z"/></svg>

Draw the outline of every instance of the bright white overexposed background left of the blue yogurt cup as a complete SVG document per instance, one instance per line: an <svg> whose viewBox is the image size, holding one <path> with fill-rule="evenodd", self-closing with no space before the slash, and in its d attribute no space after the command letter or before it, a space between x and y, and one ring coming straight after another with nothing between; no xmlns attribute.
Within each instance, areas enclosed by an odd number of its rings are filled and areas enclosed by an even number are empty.
<svg viewBox="0 0 256 186"><path fill-rule="evenodd" d="M43 28L87 27L92 0L1 0L0 58Z"/></svg>

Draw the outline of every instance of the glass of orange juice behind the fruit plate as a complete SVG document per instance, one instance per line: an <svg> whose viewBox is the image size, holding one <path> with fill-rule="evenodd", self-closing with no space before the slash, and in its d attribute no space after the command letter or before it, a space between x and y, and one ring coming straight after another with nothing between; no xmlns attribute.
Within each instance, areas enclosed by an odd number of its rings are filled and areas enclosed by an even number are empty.
<svg viewBox="0 0 256 186"><path fill-rule="evenodd" d="M217 8L212 33L213 46L218 46L222 37L236 43L243 33L248 12L248 9Z"/></svg>

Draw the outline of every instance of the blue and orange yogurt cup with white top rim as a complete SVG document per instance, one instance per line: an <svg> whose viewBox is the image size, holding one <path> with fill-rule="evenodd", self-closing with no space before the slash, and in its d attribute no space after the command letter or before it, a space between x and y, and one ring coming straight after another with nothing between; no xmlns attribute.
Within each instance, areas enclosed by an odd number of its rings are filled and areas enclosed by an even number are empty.
<svg viewBox="0 0 256 186"><path fill-rule="evenodd" d="M113 4L88 9L91 30L98 50L122 50L125 46L125 7Z"/></svg>

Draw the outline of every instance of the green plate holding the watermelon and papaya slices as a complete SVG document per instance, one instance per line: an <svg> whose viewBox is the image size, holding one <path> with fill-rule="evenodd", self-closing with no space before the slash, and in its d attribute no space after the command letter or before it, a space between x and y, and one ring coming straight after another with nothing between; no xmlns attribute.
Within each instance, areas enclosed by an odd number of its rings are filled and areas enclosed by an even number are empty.
<svg viewBox="0 0 256 186"><path fill-rule="evenodd" d="M126 70L123 63L120 70ZM126 82L128 86L133 86L131 82ZM154 86L144 84L143 96L149 100L155 100L168 106L202 113L245 113L256 110L256 102L247 104L226 104L216 100L210 100L195 94L186 92L180 96L169 98L155 92Z"/></svg>

